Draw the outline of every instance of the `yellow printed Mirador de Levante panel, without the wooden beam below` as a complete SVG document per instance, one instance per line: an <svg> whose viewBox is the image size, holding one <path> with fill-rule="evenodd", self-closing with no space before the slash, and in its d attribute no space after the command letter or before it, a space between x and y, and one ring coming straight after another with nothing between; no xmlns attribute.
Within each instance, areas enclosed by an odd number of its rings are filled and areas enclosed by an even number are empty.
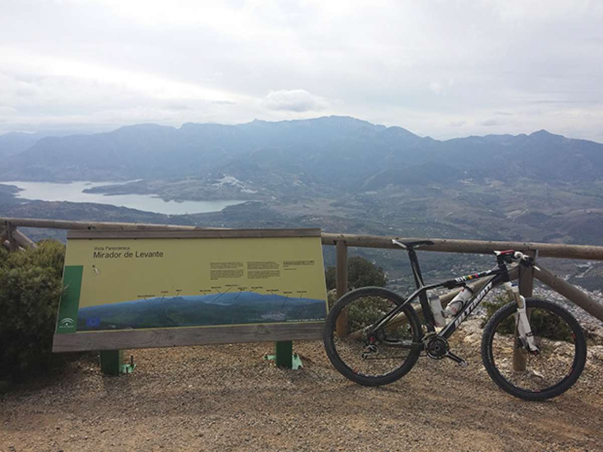
<svg viewBox="0 0 603 452"><path fill-rule="evenodd" d="M87 234L98 238L68 240L57 333L312 322L326 314L320 235Z"/></svg>

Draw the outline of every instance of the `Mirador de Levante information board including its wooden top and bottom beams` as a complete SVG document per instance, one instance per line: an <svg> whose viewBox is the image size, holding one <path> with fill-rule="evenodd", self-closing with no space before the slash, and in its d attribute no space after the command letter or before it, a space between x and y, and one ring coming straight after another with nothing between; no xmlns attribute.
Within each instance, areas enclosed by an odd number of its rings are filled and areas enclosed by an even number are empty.
<svg viewBox="0 0 603 452"><path fill-rule="evenodd" d="M318 338L326 315L317 229L71 231L63 282L54 351Z"/></svg>

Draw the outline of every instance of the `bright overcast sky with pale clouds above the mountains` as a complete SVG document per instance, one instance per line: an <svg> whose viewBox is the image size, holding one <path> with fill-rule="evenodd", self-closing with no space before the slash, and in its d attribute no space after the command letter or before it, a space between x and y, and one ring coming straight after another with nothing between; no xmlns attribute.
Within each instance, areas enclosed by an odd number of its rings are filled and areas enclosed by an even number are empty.
<svg viewBox="0 0 603 452"><path fill-rule="evenodd" d="M0 133L348 115L603 142L602 1L0 0Z"/></svg>

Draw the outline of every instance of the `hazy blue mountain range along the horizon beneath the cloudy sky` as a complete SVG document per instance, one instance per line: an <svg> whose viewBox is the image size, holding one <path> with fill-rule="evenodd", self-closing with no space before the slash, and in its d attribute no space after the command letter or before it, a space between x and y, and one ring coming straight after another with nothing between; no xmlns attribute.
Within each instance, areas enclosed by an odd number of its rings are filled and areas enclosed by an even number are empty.
<svg viewBox="0 0 603 452"><path fill-rule="evenodd" d="M0 157L8 157L0 177L13 180L227 174L262 184L279 174L352 190L516 174L582 182L603 173L603 145L544 130L440 141L401 127L336 116L240 125L189 123L180 128L145 124L41 139L13 133L0 136Z"/></svg>

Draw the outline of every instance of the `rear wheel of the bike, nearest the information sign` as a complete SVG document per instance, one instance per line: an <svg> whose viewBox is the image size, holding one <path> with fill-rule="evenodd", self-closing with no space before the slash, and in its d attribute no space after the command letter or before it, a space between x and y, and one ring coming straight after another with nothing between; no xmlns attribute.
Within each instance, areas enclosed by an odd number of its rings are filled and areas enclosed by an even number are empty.
<svg viewBox="0 0 603 452"><path fill-rule="evenodd" d="M365 386L387 385L415 365L423 334L410 304L382 328L367 334L379 319L402 303L404 300L391 290L362 287L341 297L329 310L324 347L341 374Z"/></svg>

